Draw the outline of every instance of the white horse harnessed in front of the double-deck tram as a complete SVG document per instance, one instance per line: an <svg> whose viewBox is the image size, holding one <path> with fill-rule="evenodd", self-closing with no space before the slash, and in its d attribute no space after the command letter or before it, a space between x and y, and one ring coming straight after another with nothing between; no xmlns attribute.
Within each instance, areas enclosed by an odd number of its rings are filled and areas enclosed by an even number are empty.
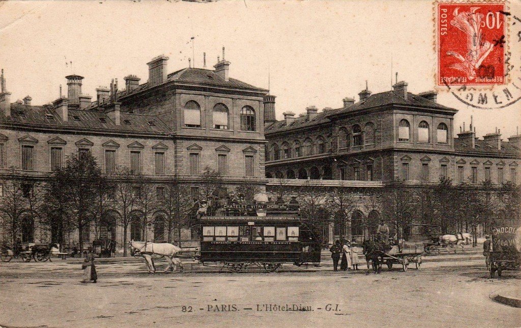
<svg viewBox="0 0 521 328"><path fill-rule="evenodd" d="M177 266L179 266L179 272L183 272L183 263L181 260L176 257L183 250L176 245L172 245L170 243L153 243L153 242L135 242L130 241L130 254L134 256L136 253L139 253L141 257L143 257L146 261L146 267L148 268L148 273L156 273L156 267L154 266L154 258L153 255L158 255L155 257L156 259L164 257L168 266L165 269L164 273L168 273L169 269L172 271L176 271Z"/></svg>

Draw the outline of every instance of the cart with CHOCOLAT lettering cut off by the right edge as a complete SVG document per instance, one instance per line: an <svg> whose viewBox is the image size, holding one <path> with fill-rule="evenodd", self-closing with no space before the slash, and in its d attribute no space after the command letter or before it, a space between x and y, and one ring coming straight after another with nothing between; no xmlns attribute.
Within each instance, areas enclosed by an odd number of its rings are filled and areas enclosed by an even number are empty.
<svg viewBox="0 0 521 328"><path fill-rule="evenodd" d="M492 225L490 277L504 270L521 269L521 220L498 219Z"/></svg>

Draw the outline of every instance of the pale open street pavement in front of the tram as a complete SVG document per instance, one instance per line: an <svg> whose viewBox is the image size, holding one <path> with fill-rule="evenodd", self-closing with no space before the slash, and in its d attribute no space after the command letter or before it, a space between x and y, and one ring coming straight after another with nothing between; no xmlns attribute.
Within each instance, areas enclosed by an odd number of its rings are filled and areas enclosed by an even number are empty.
<svg viewBox="0 0 521 328"><path fill-rule="evenodd" d="M100 259L97 284L79 282L80 263L0 263L0 325L521 325L520 309L489 298L518 285L521 274L490 279L477 251L426 257L420 270L369 275L365 263L364 270L333 272L327 253L320 267L287 264L271 274L219 273L217 265L185 261L183 273L149 275L140 259Z"/></svg>

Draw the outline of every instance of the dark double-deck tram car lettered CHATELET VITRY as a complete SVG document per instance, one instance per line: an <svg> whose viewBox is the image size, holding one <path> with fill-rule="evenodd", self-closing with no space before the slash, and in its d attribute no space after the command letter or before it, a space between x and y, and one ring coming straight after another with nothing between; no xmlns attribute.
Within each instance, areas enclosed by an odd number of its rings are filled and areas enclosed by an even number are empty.
<svg viewBox="0 0 521 328"><path fill-rule="evenodd" d="M276 272L283 263L320 263L320 243L289 205L225 207L228 215L201 218L199 260L203 265L220 262L221 269L227 267L232 272L255 265Z"/></svg>

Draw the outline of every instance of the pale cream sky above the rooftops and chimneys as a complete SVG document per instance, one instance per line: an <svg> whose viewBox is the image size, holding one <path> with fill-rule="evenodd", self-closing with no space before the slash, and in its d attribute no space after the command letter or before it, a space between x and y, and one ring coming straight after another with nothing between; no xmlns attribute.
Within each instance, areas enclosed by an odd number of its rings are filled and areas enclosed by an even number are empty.
<svg viewBox="0 0 521 328"><path fill-rule="evenodd" d="M169 72L188 67L189 57L202 67L203 52L213 69L224 46L230 77L269 87L282 119L288 110L358 101L366 81L373 93L388 91L394 72L410 92L432 90L432 19L432 2L419 0L9 1L0 3L0 67L11 101L30 95L42 105L59 96L60 84L66 93L71 73L85 77L82 92L95 97L113 78L119 89L128 74L146 82L146 63L160 54L170 58ZM477 135L498 127L506 139L521 122L521 105L476 109L444 92L438 102L459 110L457 131L472 115Z"/></svg>

